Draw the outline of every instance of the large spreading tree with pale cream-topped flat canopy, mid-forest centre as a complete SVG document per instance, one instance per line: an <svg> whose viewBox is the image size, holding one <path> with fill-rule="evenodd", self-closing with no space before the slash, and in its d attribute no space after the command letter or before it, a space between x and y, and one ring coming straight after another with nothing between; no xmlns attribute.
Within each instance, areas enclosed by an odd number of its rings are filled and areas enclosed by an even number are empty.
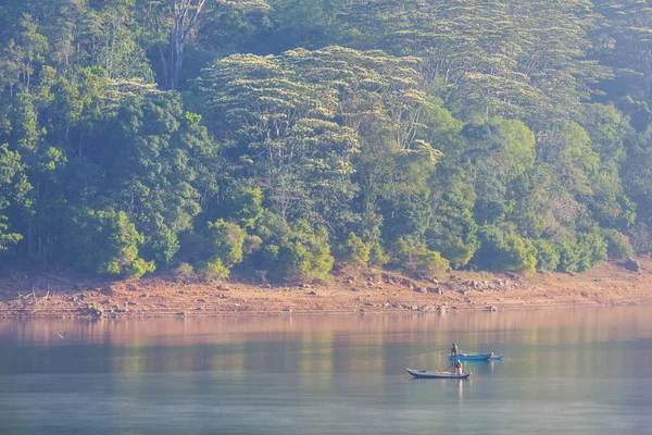
<svg viewBox="0 0 652 435"><path fill-rule="evenodd" d="M231 55L204 70L200 84L206 117L222 126L223 140L239 144L238 170L272 210L342 234L355 221L348 207L356 192L353 159L369 124L391 125L386 137L396 153L437 158L415 138L426 101L412 88L413 63L340 47Z"/></svg>

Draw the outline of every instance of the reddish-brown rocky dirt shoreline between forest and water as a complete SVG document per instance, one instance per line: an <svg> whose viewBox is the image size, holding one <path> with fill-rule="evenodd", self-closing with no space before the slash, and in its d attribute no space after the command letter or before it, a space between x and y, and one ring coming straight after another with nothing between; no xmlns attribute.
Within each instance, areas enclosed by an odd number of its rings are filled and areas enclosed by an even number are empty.
<svg viewBox="0 0 652 435"><path fill-rule="evenodd" d="M652 304L652 259L638 261L638 273L605 263L584 274L454 271L443 279L424 281L386 271L344 270L330 284L278 286L23 274L0 282L0 318L441 313Z"/></svg>

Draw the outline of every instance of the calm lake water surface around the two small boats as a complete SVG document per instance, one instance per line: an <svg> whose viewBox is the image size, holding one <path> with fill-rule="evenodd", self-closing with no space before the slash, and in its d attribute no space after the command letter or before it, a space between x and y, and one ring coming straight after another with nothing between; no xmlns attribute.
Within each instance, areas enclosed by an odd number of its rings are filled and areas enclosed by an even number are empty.
<svg viewBox="0 0 652 435"><path fill-rule="evenodd" d="M652 433L652 308L0 320L3 435L447 432Z"/></svg>

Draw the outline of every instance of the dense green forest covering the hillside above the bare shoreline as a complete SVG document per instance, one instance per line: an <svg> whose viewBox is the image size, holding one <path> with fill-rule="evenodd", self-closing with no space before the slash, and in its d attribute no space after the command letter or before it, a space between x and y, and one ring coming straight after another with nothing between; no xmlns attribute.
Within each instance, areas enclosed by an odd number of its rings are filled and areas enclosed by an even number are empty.
<svg viewBox="0 0 652 435"><path fill-rule="evenodd" d="M328 282L652 252L652 0L4 0L0 261Z"/></svg>

